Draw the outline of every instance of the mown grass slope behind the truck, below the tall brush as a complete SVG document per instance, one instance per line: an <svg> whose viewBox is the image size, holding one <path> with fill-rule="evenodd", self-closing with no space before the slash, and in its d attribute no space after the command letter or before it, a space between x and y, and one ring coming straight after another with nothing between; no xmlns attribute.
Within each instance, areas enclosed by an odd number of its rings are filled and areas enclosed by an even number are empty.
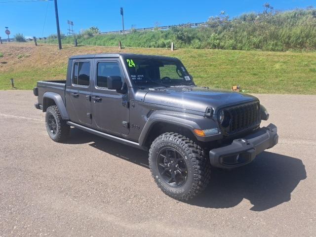
<svg viewBox="0 0 316 237"><path fill-rule="evenodd" d="M230 89L239 84L249 93L316 94L316 53L259 52L5 43L0 45L0 89L32 89L36 81L65 79L67 59L76 54L130 52L180 58L200 86Z"/></svg>

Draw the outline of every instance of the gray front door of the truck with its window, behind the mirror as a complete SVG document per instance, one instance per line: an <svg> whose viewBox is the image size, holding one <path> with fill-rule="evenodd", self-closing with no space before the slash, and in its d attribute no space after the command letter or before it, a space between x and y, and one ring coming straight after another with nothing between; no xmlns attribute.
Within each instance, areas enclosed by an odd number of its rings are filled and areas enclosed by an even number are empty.
<svg viewBox="0 0 316 237"><path fill-rule="evenodd" d="M128 93L109 90L107 78L125 77L118 59L95 59L91 95L93 127L104 132L128 134Z"/></svg>

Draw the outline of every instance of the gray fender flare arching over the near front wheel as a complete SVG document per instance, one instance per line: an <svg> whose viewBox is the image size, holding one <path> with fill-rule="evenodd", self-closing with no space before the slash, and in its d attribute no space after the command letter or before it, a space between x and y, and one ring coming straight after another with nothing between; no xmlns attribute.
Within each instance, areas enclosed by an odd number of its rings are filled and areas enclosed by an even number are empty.
<svg viewBox="0 0 316 237"><path fill-rule="evenodd" d="M174 124L189 129L197 140L204 141L202 137L198 137L193 129L208 129L210 127L218 127L217 122L212 118L205 118L199 115L174 112L174 111L155 111L147 120L144 128L139 136L138 143L140 146L145 146L146 139L153 126L158 122L165 122L167 124ZM221 134L220 134L221 135Z"/></svg>

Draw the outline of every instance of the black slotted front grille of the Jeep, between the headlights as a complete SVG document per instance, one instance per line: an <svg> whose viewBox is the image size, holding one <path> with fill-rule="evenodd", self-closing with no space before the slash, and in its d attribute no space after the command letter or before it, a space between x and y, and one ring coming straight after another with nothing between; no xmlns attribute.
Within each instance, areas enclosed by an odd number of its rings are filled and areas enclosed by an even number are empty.
<svg viewBox="0 0 316 237"><path fill-rule="evenodd" d="M225 111L230 115L229 125L223 127L219 122L221 111ZM260 125L260 103L254 101L250 103L240 104L236 106L222 108L217 113L217 120L224 135L234 135L244 132L248 129L256 128Z"/></svg>

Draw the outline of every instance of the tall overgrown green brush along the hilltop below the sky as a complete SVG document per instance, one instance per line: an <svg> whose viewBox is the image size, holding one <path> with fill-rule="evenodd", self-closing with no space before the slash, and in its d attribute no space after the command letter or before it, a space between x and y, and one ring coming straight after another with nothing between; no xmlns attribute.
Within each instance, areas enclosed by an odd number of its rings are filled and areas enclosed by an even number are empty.
<svg viewBox="0 0 316 237"><path fill-rule="evenodd" d="M205 19L206 20L206 19ZM128 35L95 35L85 30L78 36L81 45L126 47L238 49L265 51L316 50L316 9L276 12L270 8L262 13L243 14L230 19L225 13L210 17L206 26L186 25L170 30L134 32ZM73 37L63 43L73 43ZM57 43L56 39L42 40Z"/></svg>

